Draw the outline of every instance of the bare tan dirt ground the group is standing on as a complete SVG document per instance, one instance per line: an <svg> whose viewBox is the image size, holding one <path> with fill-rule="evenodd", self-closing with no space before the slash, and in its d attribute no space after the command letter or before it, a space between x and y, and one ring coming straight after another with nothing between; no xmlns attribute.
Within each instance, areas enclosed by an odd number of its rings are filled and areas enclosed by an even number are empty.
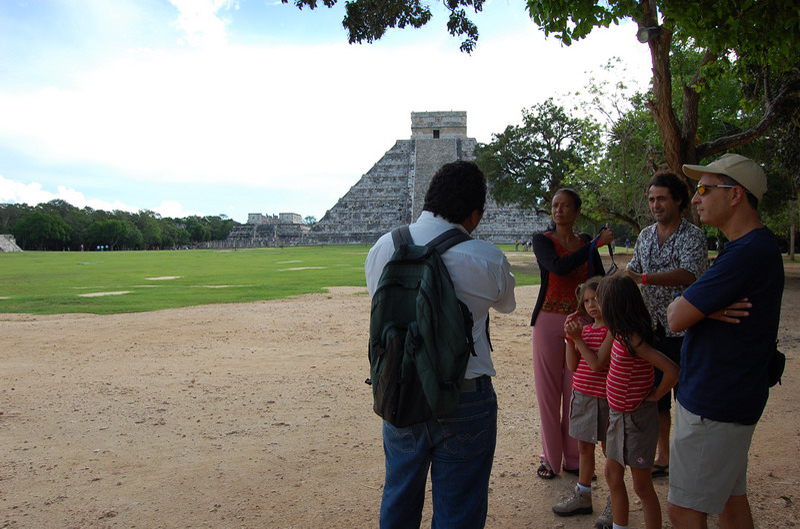
<svg viewBox="0 0 800 529"><path fill-rule="evenodd" d="M800 523L800 268L787 274L787 369L750 453L765 528ZM550 511L575 478L535 475L537 288L517 289L514 313L492 314L500 410L487 525L591 527L594 515ZM368 310L364 289L339 288L145 314L0 314L0 528L377 527ZM595 514L607 494L597 473ZM656 489L666 513L667 480Z"/></svg>

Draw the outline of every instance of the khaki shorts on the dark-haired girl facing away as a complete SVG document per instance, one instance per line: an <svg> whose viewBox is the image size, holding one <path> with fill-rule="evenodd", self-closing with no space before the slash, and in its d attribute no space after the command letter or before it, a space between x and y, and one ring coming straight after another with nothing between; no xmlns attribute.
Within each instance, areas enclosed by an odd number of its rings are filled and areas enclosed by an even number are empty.
<svg viewBox="0 0 800 529"><path fill-rule="evenodd" d="M643 401L629 413L610 410L606 457L622 466L651 468L658 444L658 404ZM671 464L671 463L670 463Z"/></svg>

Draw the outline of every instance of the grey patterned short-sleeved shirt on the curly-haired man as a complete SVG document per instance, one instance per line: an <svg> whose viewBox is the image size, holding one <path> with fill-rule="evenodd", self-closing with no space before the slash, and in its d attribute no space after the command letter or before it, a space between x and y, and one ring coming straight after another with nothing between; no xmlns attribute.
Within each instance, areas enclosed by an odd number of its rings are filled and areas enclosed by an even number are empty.
<svg viewBox="0 0 800 529"><path fill-rule="evenodd" d="M695 279L703 275L708 265L708 249L703 230L686 219L681 219L678 229L664 244L658 244L658 224L646 227L639 234L633 248L633 257L628 270L637 274L654 274L683 268L691 272ZM642 297L653 318L653 325L660 322L667 336L683 336L682 332L669 330L667 307L675 296L688 285L667 287L661 285L642 285Z"/></svg>

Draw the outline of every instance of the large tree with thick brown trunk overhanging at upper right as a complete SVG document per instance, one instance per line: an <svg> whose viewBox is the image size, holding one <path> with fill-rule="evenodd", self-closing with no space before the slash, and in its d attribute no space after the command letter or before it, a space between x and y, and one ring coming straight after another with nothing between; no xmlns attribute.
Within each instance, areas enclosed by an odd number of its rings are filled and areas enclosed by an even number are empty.
<svg viewBox="0 0 800 529"><path fill-rule="evenodd" d="M531 18L565 44L598 27L633 19L650 48L652 98L648 107L658 124L669 167L681 174L696 163L763 136L800 90L797 50L800 11L783 0L528 0ZM682 114L673 104L673 39L701 50L694 75L682 87ZM742 81L760 87L761 118L746 130L698 140L698 109L715 69L731 68ZM753 94L756 95L756 94Z"/></svg>

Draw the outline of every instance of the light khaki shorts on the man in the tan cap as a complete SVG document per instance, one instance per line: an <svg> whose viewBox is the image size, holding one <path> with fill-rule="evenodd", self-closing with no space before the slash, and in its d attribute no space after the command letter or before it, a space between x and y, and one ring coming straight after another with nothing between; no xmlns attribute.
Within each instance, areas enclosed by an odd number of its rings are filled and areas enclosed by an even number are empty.
<svg viewBox="0 0 800 529"><path fill-rule="evenodd" d="M704 419L676 403L667 501L719 514L728 498L747 494L747 452L755 429Z"/></svg>

